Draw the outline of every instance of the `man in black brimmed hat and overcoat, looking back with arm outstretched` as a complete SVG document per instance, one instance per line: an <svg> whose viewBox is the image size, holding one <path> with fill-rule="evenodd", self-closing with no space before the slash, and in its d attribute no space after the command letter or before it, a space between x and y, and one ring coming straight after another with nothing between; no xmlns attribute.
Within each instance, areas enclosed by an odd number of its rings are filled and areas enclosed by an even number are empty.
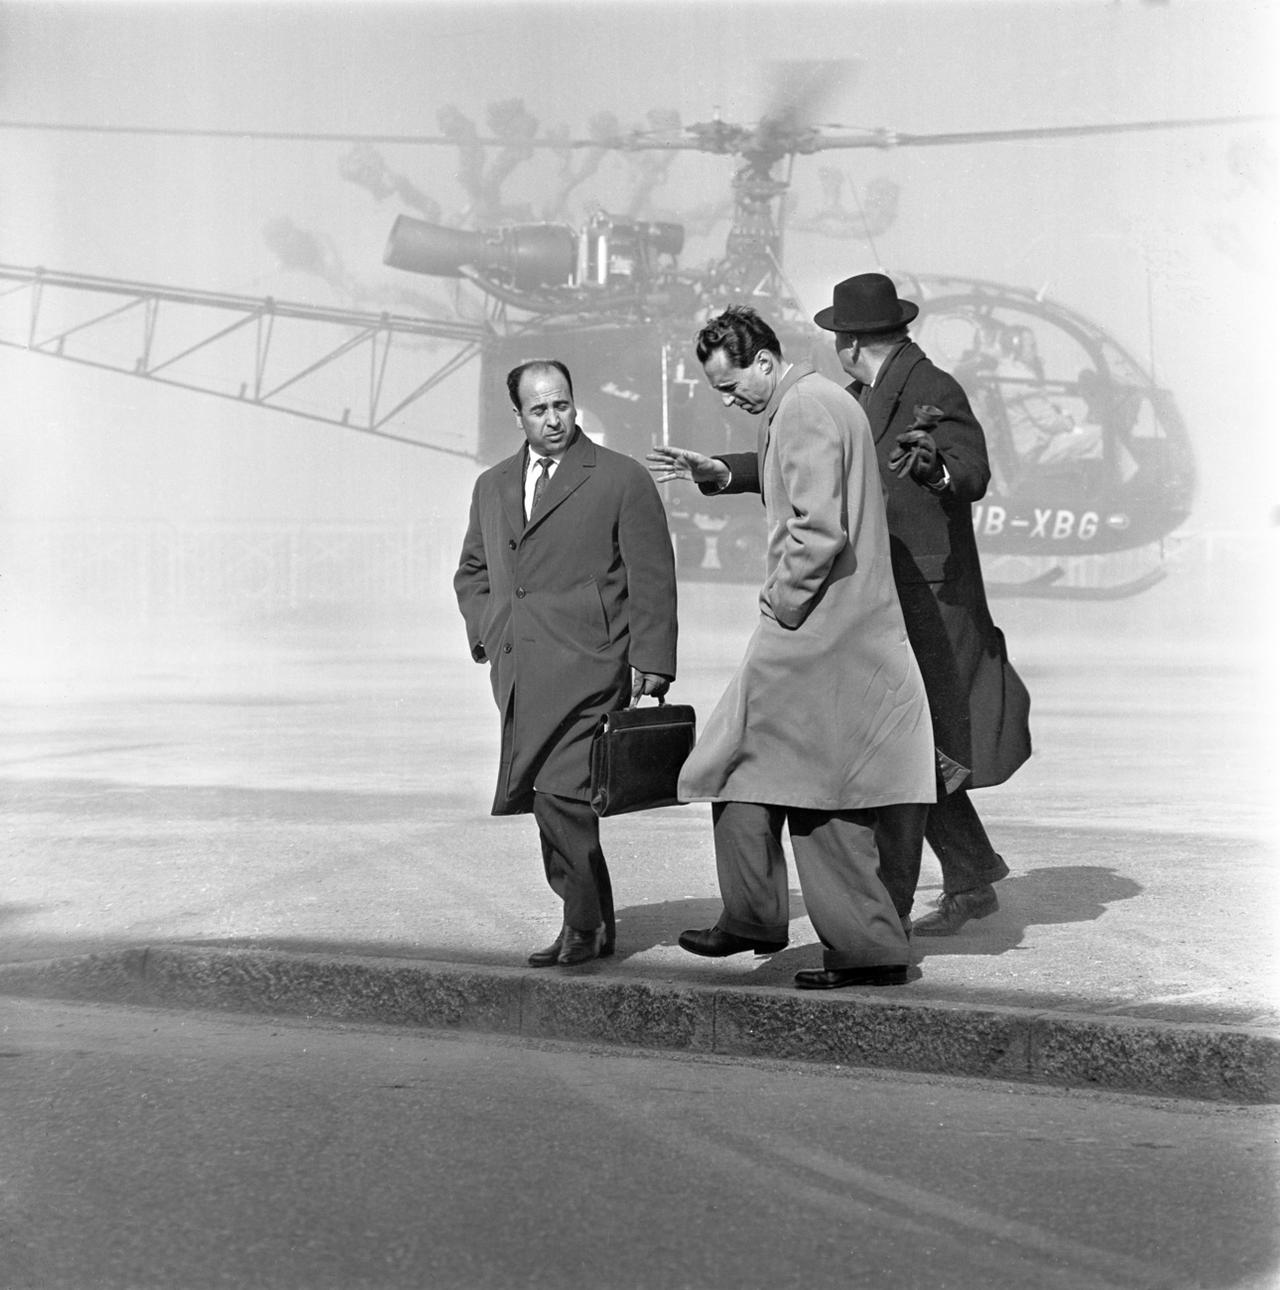
<svg viewBox="0 0 1280 1290"><path fill-rule="evenodd" d="M938 753L938 800L924 837L942 868L938 908L917 935L952 935L997 908L992 884L1009 872L991 845L969 788L1004 783L1031 755L1030 699L991 619L970 503L987 490L986 439L959 382L934 366L907 325L919 306L884 273L837 283L814 322L835 333L848 390L871 424L884 485L893 577L929 695ZM705 493L759 490L751 453L679 453L679 473ZM885 881L899 915L919 873L919 814L880 813Z"/></svg>

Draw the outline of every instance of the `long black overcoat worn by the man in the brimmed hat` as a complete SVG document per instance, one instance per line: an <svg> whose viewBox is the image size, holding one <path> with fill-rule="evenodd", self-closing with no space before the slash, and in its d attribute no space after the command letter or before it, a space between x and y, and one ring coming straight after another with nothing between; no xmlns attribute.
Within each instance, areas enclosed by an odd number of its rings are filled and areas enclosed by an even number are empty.
<svg viewBox="0 0 1280 1290"><path fill-rule="evenodd" d="M991 479L982 427L959 382L911 341L890 355L870 391L861 382L848 388L871 423L894 583L929 695L934 743L969 769L947 787L1004 783L1031 755L1030 698L991 619L973 537L970 507ZM898 479L888 467L898 435L924 405L942 414L930 430L951 476L941 494L910 476ZM759 489L754 454L734 453L724 461L733 471L733 490Z"/></svg>

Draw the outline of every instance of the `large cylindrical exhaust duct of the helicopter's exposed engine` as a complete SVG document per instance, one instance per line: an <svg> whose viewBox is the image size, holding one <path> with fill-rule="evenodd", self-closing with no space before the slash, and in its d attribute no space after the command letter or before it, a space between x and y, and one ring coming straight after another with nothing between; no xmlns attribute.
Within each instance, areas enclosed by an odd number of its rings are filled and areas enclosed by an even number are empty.
<svg viewBox="0 0 1280 1290"><path fill-rule="evenodd" d="M399 215L382 262L432 277L462 277L462 267L468 266L528 292L572 281L578 266L578 237L565 224L516 224L476 232Z"/></svg>

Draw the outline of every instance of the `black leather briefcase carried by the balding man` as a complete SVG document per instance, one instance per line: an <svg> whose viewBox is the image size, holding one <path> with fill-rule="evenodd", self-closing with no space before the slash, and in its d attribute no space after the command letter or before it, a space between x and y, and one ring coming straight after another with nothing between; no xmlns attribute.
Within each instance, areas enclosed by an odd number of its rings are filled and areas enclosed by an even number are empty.
<svg viewBox="0 0 1280 1290"><path fill-rule="evenodd" d="M676 780L695 738L688 703L606 712L591 737L591 809L622 815L677 806Z"/></svg>

